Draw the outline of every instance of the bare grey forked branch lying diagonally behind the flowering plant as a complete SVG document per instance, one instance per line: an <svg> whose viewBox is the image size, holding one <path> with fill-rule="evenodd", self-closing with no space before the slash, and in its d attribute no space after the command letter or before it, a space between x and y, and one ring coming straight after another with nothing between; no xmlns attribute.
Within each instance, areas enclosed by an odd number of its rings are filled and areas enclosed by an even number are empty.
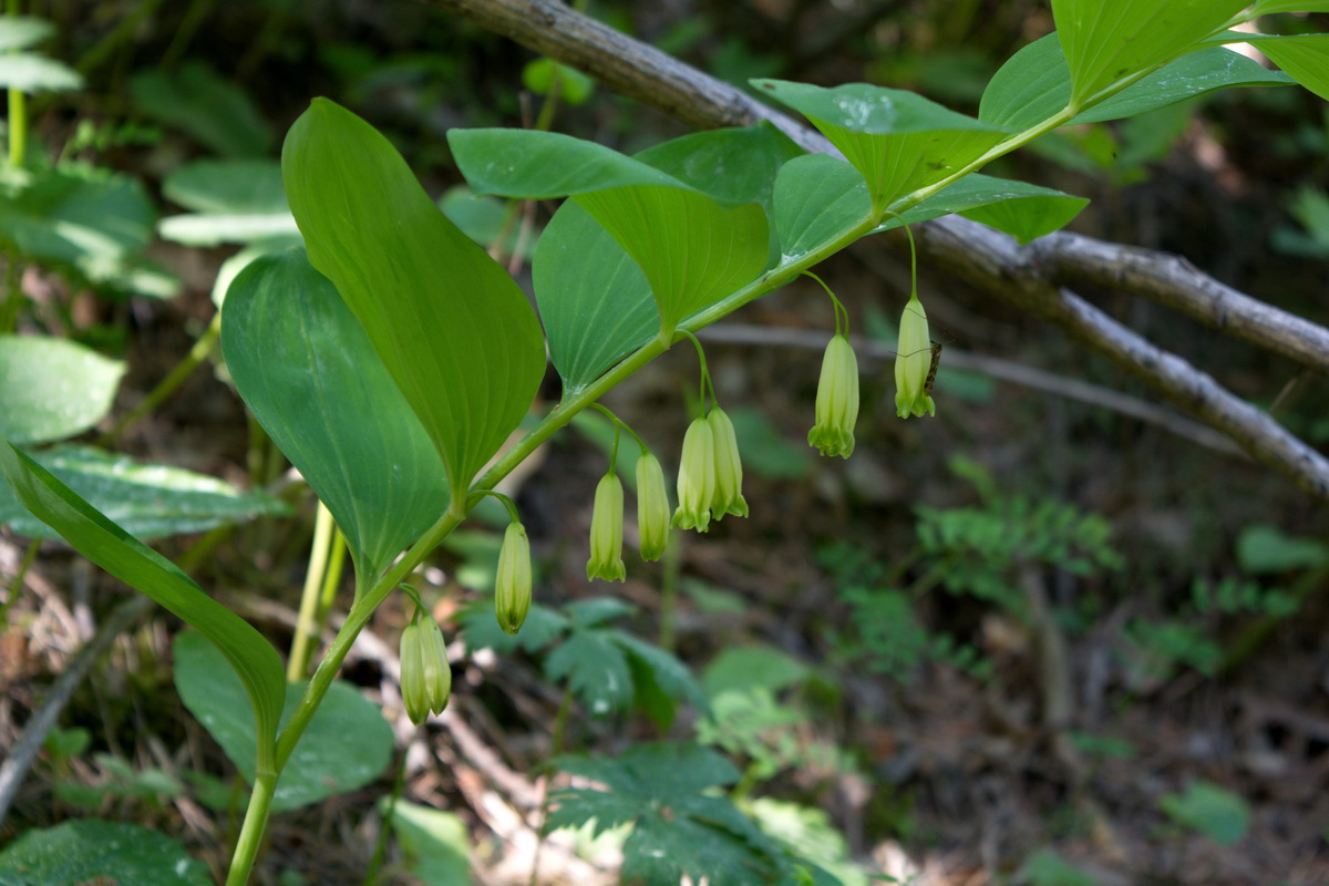
<svg viewBox="0 0 1329 886"><path fill-rule="evenodd" d="M614 92L692 126L747 126L767 120L805 150L836 153L820 133L556 0L421 1L578 68ZM917 232L925 251L945 259L957 275L1055 324L1228 434L1298 489L1329 499L1329 461L1320 453L1211 376L1063 286L1096 283L1142 295L1317 369L1329 369L1329 331L1243 295L1171 255L1074 234L1054 234L1019 247L1011 238L958 217L928 222Z"/></svg>

